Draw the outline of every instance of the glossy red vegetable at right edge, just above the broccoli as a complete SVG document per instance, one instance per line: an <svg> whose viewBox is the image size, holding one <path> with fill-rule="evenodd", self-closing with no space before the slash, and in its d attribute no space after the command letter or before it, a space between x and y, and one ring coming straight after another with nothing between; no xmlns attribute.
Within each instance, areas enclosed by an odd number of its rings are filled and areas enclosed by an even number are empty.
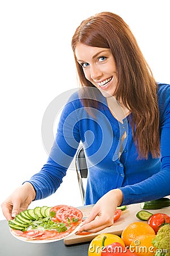
<svg viewBox="0 0 170 256"><path fill-rule="evenodd" d="M170 223L170 216L165 213L155 213L148 218L147 223L155 230L156 234L161 226Z"/></svg>

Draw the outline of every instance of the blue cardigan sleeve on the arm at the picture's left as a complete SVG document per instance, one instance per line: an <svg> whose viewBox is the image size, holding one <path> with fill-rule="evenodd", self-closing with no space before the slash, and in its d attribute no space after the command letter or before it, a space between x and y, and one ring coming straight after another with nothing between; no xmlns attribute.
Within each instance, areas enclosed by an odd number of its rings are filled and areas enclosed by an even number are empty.
<svg viewBox="0 0 170 256"><path fill-rule="evenodd" d="M62 178L66 175L80 142L76 115L73 102L67 102L59 119L56 138L48 160L41 171L28 180L35 188L35 200L43 199L56 192L62 183Z"/></svg>

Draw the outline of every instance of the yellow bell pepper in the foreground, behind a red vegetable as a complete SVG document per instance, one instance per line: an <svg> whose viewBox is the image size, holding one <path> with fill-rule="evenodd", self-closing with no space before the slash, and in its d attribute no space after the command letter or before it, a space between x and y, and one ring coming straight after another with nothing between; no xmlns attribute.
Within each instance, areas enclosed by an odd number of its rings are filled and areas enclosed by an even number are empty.
<svg viewBox="0 0 170 256"><path fill-rule="evenodd" d="M109 233L99 234L91 241L88 247L88 256L101 255L103 237L106 237L104 240L104 246L111 245L111 243L114 243L114 242L121 243L121 245L125 246L125 243L121 239L121 237L115 234L109 234Z"/></svg>

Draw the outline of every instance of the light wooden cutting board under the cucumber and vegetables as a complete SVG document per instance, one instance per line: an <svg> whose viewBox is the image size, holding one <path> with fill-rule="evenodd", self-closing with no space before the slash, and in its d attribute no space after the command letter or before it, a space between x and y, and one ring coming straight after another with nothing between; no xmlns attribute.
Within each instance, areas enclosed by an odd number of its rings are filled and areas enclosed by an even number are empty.
<svg viewBox="0 0 170 256"><path fill-rule="evenodd" d="M88 214L90 214L92 205L87 205L85 207L79 207L80 210L82 210L83 217L87 217ZM121 217L114 222L112 226L109 228L105 228L101 230L100 232L97 233L91 233L88 235L80 236L80 235L75 235L73 234L72 236L69 236L65 238L63 241L65 245L71 245L74 243L82 243L82 242L88 242L91 241L94 237L97 236L97 234L101 233L112 233L116 234L118 236L121 235L122 231L128 226L131 222L134 221L139 221L138 218L136 217L136 213L141 210L140 204L131 204L127 206L127 209L122 211ZM151 213L167 213L170 214L170 207L168 208L163 208L159 210L149 210Z"/></svg>

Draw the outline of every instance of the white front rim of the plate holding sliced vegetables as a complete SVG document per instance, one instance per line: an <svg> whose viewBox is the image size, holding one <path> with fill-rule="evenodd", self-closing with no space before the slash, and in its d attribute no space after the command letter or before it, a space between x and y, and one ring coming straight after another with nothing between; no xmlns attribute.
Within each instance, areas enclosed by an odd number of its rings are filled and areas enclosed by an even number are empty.
<svg viewBox="0 0 170 256"><path fill-rule="evenodd" d="M50 240L28 240L27 238L25 238L25 237L21 237L21 236L16 236L13 232L12 232L12 229L10 228L10 232L11 232L11 234L12 234L12 236L14 236L16 239L18 239L18 240L20 240L20 241L24 241L24 242L27 242L27 243L51 243L51 242L56 242L56 241L59 241L59 240L63 240L63 239L65 239L66 237L69 237L69 236L71 236L71 235L73 235L73 234L75 234L78 230L79 230L79 228L80 228L80 226L82 225L82 222L73 230L73 232L71 232L70 234L68 234L67 236L65 236L65 237L62 237L62 238L58 238L58 239L50 239Z"/></svg>

